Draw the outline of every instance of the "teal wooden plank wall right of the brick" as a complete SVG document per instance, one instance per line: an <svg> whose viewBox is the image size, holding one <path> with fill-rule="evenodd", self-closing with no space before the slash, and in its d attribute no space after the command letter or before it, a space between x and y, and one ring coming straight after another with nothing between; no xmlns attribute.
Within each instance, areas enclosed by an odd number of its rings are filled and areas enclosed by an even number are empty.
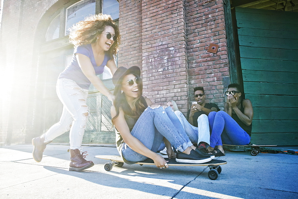
<svg viewBox="0 0 298 199"><path fill-rule="evenodd" d="M235 7L252 143L298 145L298 13Z"/></svg>

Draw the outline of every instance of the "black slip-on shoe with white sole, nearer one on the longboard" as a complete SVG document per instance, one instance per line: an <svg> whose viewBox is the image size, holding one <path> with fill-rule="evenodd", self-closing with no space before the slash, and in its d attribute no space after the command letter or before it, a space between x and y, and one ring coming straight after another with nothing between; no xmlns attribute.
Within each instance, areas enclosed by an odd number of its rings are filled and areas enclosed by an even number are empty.
<svg viewBox="0 0 298 199"><path fill-rule="evenodd" d="M211 160L212 158L210 156L202 156L195 150L191 150L189 155L180 151L176 153L176 162L200 164L209 162Z"/></svg>

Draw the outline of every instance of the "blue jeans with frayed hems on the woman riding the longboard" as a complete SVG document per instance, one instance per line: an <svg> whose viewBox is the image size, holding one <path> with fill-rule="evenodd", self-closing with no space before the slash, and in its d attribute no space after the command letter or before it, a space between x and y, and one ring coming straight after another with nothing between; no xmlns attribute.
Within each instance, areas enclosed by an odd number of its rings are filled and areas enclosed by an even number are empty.
<svg viewBox="0 0 298 199"><path fill-rule="evenodd" d="M146 108L131 130L131 135L153 152L158 150L163 137L181 152L193 145L170 107ZM131 162L148 158L132 150L126 143L122 144L121 152Z"/></svg>

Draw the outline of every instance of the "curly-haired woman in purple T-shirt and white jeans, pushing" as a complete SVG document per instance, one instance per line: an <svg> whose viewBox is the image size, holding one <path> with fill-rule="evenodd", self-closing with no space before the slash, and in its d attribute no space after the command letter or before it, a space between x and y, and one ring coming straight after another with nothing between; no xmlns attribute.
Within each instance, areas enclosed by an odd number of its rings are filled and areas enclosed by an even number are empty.
<svg viewBox="0 0 298 199"><path fill-rule="evenodd" d="M110 15L90 15L71 28L69 41L75 46L71 63L60 73L57 80L57 94L63 103L60 121L40 137L32 139L33 158L40 162L46 144L70 130L69 170L81 171L92 167L86 161L82 150L82 140L88 118L86 104L88 89L92 83L112 102L114 95L97 75L107 66L112 74L117 70L114 61L120 44L119 29Z"/></svg>

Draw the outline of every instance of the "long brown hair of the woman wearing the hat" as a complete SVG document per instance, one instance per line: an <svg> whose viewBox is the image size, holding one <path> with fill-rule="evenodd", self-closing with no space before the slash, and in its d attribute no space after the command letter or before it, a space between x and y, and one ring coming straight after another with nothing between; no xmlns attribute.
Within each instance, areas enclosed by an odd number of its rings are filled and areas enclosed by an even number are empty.
<svg viewBox="0 0 298 199"><path fill-rule="evenodd" d="M134 76L140 78L138 75L134 73ZM119 81L122 83L122 79ZM121 87L121 84L117 84L116 87ZM115 88L116 90L116 88ZM145 98L142 96L143 93L143 83L140 80L138 84L138 94L139 96L132 101L132 106L135 107L135 110L131 108L131 106L128 104L125 94L121 93L121 89L118 89L118 92L115 94L115 100L114 100L114 106L116 109L116 116L112 118L112 124L114 125L114 119L116 119L119 116L119 109L121 108L125 115L131 116L133 119L137 120L141 116L141 114L144 112L144 110L147 108L147 102Z"/></svg>

